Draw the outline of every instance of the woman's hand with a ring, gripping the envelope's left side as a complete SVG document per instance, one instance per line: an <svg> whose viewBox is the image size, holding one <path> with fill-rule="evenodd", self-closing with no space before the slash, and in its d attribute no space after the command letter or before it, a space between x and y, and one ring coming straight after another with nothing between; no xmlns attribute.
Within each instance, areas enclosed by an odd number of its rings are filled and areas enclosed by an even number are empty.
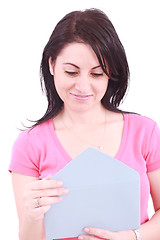
<svg viewBox="0 0 160 240"><path fill-rule="evenodd" d="M62 181L50 178L49 175L42 180L29 182L24 189L24 216L32 221L43 219L51 205L60 202L61 196L68 193L68 189L62 188Z"/></svg>

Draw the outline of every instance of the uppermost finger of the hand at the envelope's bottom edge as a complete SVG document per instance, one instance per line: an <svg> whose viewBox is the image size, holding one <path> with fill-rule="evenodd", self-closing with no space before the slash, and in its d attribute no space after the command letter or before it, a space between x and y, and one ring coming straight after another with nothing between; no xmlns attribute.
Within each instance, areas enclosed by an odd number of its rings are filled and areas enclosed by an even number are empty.
<svg viewBox="0 0 160 240"><path fill-rule="evenodd" d="M105 229L100 229L100 228L87 227L87 228L84 228L84 231L86 233L95 235L100 238L105 238L105 239L112 239L112 236L113 236L113 232L110 232Z"/></svg>

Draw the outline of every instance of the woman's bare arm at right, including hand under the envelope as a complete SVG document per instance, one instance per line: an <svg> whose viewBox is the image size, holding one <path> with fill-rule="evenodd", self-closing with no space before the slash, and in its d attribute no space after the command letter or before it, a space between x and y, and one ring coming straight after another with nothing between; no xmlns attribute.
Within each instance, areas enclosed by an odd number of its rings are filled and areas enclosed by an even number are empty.
<svg viewBox="0 0 160 240"><path fill-rule="evenodd" d="M142 240L160 240L160 169L148 173L148 179L150 182L155 214L151 220L141 225L140 233ZM100 237L108 240L136 240L133 231L110 232L90 227L84 230L91 235L81 235L79 239L99 240L97 237Z"/></svg>

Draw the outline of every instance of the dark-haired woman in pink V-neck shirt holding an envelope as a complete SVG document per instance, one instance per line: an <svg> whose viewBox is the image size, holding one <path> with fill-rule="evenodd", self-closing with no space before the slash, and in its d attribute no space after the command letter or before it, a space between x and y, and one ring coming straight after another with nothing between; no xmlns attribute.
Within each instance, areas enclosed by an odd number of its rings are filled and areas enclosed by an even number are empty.
<svg viewBox="0 0 160 240"><path fill-rule="evenodd" d="M87 234L79 239L160 239L160 130L153 120L118 109L129 68L108 17L96 9L66 15L44 49L41 75L48 109L31 129L20 133L9 167L20 240L46 239L44 213L68 194L61 179L49 179L88 147L140 174L141 227L110 232L86 226ZM151 220L149 193L155 208Z"/></svg>

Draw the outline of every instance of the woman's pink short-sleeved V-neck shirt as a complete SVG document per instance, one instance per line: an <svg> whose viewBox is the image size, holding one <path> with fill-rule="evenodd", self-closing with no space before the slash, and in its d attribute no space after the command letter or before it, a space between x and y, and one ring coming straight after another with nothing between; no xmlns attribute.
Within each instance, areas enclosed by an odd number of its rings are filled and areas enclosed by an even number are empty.
<svg viewBox="0 0 160 240"><path fill-rule="evenodd" d="M148 221L150 185L147 173L160 168L160 129L147 117L126 113L123 116L123 137L115 158L140 175L142 224ZM71 160L50 119L19 134L13 145L9 171L42 179L54 175Z"/></svg>

